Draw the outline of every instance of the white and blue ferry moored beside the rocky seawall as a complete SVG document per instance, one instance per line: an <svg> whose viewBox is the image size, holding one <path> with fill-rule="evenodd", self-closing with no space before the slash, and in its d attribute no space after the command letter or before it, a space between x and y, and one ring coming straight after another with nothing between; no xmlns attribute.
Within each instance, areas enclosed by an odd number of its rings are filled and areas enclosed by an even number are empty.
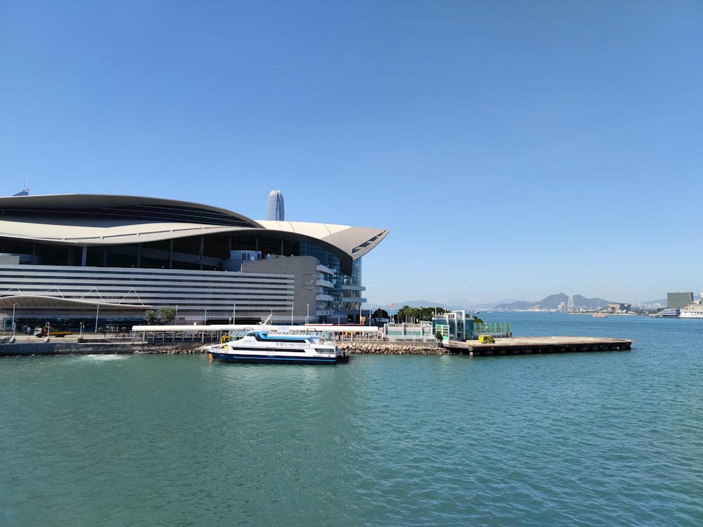
<svg viewBox="0 0 703 527"><path fill-rule="evenodd" d="M209 357L224 363L336 364L349 361L334 341L321 335L271 334L252 330L239 340L206 346Z"/></svg>

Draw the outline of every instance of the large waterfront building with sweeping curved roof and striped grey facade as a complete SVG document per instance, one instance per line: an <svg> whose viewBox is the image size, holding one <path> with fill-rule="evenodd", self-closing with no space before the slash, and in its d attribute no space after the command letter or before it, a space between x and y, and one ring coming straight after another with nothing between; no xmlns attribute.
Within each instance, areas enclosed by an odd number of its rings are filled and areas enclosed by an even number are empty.
<svg viewBox="0 0 703 527"><path fill-rule="evenodd" d="M164 307L180 325L356 322L361 256L387 233L152 197L0 197L0 315L18 331L131 327Z"/></svg>

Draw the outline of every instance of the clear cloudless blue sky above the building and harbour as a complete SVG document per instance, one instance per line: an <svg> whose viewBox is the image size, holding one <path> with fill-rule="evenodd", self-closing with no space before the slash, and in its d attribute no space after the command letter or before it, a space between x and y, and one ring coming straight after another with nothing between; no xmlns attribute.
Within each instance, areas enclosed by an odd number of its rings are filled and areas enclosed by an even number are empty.
<svg viewBox="0 0 703 527"><path fill-rule="evenodd" d="M0 2L1 194L387 228L366 297L703 289L703 2Z"/></svg>

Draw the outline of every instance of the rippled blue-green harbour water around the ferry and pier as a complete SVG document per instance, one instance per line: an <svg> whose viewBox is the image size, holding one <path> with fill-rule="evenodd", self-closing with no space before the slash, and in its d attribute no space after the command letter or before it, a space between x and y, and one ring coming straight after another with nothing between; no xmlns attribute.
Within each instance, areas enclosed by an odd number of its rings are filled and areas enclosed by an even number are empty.
<svg viewBox="0 0 703 527"><path fill-rule="evenodd" d="M703 524L703 320L484 314L632 351L0 359L2 526Z"/></svg>

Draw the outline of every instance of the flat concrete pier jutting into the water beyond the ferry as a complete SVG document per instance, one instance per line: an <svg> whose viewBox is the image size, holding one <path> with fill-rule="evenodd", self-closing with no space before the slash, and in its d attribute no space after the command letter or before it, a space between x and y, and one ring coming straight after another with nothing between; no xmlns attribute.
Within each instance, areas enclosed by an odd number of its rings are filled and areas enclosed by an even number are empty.
<svg viewBox="0 0 703 527"><path fill-rule="evenodd" d="M478 340L450 341L444 348L450 353L472 357L494 355L528 355L532 353L582 353L584 351L627 351L633 340L608 337L510 337L496 338L495 343Z"/></svg>

